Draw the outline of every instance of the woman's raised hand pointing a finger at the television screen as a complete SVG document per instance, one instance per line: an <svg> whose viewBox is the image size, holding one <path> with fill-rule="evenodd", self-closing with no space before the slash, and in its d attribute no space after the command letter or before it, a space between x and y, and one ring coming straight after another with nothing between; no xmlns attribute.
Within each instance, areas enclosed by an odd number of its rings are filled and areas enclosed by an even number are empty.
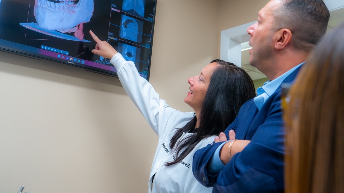
<svg viewBox="0 0 344 193"><path fill-rule="evenodd" d="M106 41L101 41L92 31L89 31L94 41L97 43L96 48L92 50L92 53L99 55L104 58L112 58L118 53L115 48L113 48Z"/></svg>

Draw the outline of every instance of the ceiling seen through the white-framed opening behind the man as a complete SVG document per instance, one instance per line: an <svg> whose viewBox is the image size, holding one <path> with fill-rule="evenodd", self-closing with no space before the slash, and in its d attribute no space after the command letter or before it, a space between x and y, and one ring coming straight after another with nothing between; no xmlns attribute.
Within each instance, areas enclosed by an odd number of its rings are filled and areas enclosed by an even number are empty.
<svg viewBox="0 0 344 193"><path fill-rule="evenodd" d="M330 20L327 26L327 32L330 32L334 27L338 26L344 21L344 8L332 10L330 12ZM241 44L241 49L250 48L248 42L244 42ZM252 78L252 80L264 79L267 78L263 73L261 73L257 68L252 67L248 60L250 54L248 53L249 50L241 51L241 68L243 68Z"/></svg>

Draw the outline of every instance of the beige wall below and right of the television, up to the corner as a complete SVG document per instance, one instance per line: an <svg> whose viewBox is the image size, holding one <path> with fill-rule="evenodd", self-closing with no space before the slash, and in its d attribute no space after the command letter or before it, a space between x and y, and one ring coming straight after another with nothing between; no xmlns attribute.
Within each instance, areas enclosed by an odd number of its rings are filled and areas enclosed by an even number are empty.
<svg viewBox="0 0 344 193"><path fill-rule="evenodd" d="M172 107L218 57L217 0L158 0L150 81ZM0 192L147 192L158 137L118 79L0 52Z"/></svg>

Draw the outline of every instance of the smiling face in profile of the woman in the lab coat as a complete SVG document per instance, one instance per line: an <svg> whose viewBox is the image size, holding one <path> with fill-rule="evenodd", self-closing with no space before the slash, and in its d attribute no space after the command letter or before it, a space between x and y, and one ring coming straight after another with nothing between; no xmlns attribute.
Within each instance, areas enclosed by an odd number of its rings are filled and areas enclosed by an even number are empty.
<svg viewBox="0 0 344 193"><path fill-rule="evenodd" d="M187 82L190 84L190 91L184 98L184 102L193 108L195 112L201 111L210 78L217 65L215 62L210 63L202 69L199 75L187 79Z"/></svg>

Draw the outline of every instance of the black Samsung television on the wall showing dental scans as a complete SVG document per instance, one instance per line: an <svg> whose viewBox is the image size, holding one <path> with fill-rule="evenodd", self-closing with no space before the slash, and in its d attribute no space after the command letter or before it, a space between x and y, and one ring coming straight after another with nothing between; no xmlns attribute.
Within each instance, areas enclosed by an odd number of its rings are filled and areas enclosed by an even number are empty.
<svg viewBox="0 0 344 193"><path fill-rule="evenodd" d="M149 80L157 0L0 0L0 50L117 76L94 55L106 40Z"/></svg>

